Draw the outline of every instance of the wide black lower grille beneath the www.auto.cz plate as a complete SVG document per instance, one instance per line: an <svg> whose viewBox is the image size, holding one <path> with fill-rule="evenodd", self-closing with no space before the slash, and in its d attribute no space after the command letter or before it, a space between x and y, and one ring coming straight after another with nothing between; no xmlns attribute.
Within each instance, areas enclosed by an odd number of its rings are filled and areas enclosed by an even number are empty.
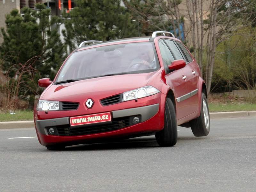
<svg viewBox="0 0 256 192"><path fill-rule="evenodd" d="M121 117L112 119L112 123L109 124L93 124L79 127L72 127L70 125L58 125L56 126L59 136L76 136L76 135L87 135L93 133L109 132L118 129L128 127L129 117Z"/></svg>

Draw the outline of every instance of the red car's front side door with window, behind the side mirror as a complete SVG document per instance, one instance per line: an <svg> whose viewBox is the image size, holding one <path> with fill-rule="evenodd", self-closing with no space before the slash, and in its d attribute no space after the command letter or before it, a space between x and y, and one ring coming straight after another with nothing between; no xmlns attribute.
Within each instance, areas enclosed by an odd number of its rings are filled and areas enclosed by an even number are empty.
<svg viewBox="0 0 256 192"><path fill-rule="evenodd" d="M172 52L170 51L169 47L163 39L161 39L158 43L160 53L164 62L163 64L167 67L172 63L172 61L176 60L176 58L174 58ZM187 116L190 108L188 101L180 100L182 96L188 93L186 80L184 80L183 77L184 75L182 69L172 71L171 73L165 75L166 84L172 87L172 91L176 99L177 120Z"/></svg>

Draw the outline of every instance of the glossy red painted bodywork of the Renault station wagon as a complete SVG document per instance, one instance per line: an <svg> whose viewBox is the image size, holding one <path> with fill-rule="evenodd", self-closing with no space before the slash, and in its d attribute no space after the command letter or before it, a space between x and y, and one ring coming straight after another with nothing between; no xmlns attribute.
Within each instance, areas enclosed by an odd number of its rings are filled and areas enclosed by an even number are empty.
<svg viewBox="0 0 256 192"><path fill-rule="evenodd" d="M36 127L36 133L39 142L42 145L46 146L58 143L76 144L85 143L87 141L96 139L98 140L123 136L129 137L130 135L135 135L139 133L160 131L164 127L165 99L167 94L170 94L170 92L174 95L175 98L179 98L187 94L188 92L192 92L198 89L198 92L195 95L186 100L183 100L181 102L177 102L176 99L174 100L178 125L186 123L198 117L200 115L201 92L204 84L203 79L199 76L199 66L191 55L191 57L193 58L192 62L187 63L187 65L183 68L174 70L166 74L164 70L163 59L158 46L158 41L162 38L180 41L179 39L165 36L157 36L154 39L156 54L158 56L160 68L150 73L105 76L55 85L54 82L56 80L56 77L60 73L61 68L63 67L63 65L65 65L65 60L53 82L42 93L40 100L78 102L80 103L78 109L73 111L48 111L48 113L45 113L44 111L36 111L35 109L34 120L36 121L61 117L75 117L90 114L100 114L115 110L138 108L159 104L159 110L156 115L142 123L134 124L119 130L79 136L57 136L42 134L38 131ZM132 39L125 42L117 41L96 44L93 46L80 48L78 51L110 44L134 42L148 42L148 39ZM195 73L192 74L192 72L194 71ZM187 78L183 79L184 76L186 76ZM140 98L138 100L120 102L109 106L102 106L100 104L100 100L104 98L111 97L113 95L127 92L147 85L155 87L160 92L148 97ZM88 98L92 98L95 102L92 108L87 108L85 106L85 102Z"/></svg>

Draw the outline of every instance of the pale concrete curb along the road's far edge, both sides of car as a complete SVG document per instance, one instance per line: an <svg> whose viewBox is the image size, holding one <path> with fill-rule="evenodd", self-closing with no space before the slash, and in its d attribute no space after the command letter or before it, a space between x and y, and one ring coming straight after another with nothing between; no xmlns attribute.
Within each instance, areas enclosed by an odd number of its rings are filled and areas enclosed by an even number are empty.
<svg viewBox="0 0 256 192"><path fill-rule="evenodd" d="M256 111L236 111L236 112L217 112L210 113L211 119L222 118L237 118L256 116ZM0 122L0 129L14 129L14 128L34 128L34 121L6 121Z"/></svg>

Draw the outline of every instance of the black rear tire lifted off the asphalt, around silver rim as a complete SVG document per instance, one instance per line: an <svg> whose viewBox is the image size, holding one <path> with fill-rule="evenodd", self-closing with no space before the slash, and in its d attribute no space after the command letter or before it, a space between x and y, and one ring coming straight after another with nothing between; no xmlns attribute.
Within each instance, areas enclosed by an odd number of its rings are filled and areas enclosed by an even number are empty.
<svg viewBox="0 0 256 192"><path fill-rule="evenodd" d="M205 102L205 106L203 106L204 102ZM207 111L204 110L205 107L207 108ZM205 118L207 118L207 114L208 114L208 124L207 124L207 120L205 120ZM210 132L210 113L209 113L207 98L204 95L204 93L202 93L202 96L201 96L200 116L197 117L196 119L193 119L190 125L191 125L191 130L196 137L206 136Z"/></svg>

